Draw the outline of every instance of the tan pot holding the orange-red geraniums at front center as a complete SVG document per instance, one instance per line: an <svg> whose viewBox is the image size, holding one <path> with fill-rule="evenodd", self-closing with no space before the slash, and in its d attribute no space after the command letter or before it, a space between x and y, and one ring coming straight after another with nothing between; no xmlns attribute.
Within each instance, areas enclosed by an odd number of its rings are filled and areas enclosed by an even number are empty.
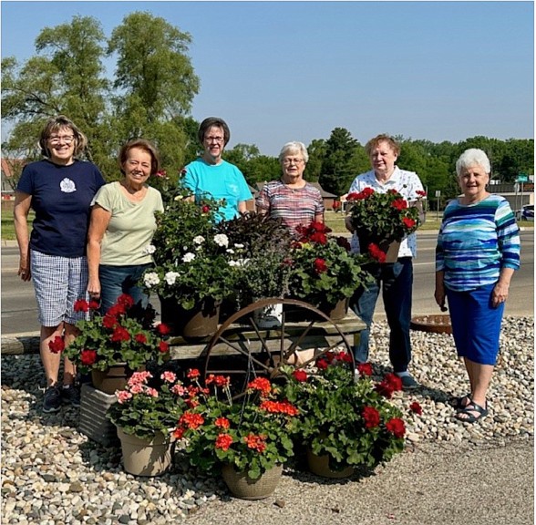
<svg viewBox="0 0 536 525"><path fill-rule="evenodd" d="M222 467L222 478L232 495L239 499L266 499L276 489L283 465L266 470L258 479L251 479L246 472L237 472L232 465Z"/></svg>

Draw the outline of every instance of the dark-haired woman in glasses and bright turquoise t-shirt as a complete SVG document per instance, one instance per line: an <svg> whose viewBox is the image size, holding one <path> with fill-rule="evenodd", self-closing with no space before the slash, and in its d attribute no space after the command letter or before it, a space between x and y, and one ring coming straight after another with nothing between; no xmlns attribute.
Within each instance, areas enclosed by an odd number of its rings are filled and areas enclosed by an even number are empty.
<svg viewBox="0 0 536 525"><path fill-rule="evenodd" d="M231 138L229 127L222 118L209 117L201 122L198 138L204 148L199 159L186 166L182 184L193 191L195 201L210 196L225 200L220 208L224 220L234 219L246 211L252 192L236 166L222 159L223 149Z"/></svg>

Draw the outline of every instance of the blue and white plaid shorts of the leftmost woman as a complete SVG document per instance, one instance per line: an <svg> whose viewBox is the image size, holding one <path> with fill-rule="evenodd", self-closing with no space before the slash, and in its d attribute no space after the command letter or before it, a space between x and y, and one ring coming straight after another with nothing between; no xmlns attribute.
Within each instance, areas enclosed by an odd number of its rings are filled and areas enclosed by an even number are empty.
<svg viewBox="0 0 536 525"><path fill-rule="evenodd" d="M60 257L32 250L30 264L42 326L57 326L63 321L76 324L88 317L84 312L74 311L77 299L88 300L88 260L85 256Z"/></svg>

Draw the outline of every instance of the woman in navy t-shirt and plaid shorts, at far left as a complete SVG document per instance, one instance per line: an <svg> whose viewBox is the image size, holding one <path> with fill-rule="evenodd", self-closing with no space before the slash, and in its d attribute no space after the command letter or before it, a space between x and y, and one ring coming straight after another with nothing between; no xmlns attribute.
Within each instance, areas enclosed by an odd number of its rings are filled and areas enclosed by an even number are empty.
<svg viewBox="0 0 536 525"><path fill-rule="evenodd" d="M44 412L57 412L63 402L79 405L74 386L75 366L64 360L63 388L58 375L60 353L49 344L68 345L77 335L75 324L83 312L74 304L86 297L88 262L86 242L91 201L105 183L91 162L77 160L88 139L62 115L51 118L39 145L45 157L27 164L15 191L15 234L20 252L18 274L33 278L41 324L40 354L46 374ZM36 212L31 236L27 216Z"/></svg>

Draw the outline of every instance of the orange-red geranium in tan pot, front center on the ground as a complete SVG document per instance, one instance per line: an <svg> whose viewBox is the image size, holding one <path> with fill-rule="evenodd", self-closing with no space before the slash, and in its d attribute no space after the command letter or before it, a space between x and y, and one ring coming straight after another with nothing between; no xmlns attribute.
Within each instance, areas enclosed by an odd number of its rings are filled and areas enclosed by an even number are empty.
<svg viewBox="0 0 536 525"><path fill-rule="evenodd" d="M247 499L269 496L283 463L294 455L290 424L298 409L264 377L253 379L243 396L233 400L228 376L209 375L204 386L199 376L197 370L188 373L192 385L187 404L191 408L180 417L175 438L186 439L185 451L192 466L212 473L222 470L235 495ZM266 477L269 486L261 486L261 495L252 494L254 482L263 479L264 483ZM246 494L239 493L244 486Z"/></svg>

